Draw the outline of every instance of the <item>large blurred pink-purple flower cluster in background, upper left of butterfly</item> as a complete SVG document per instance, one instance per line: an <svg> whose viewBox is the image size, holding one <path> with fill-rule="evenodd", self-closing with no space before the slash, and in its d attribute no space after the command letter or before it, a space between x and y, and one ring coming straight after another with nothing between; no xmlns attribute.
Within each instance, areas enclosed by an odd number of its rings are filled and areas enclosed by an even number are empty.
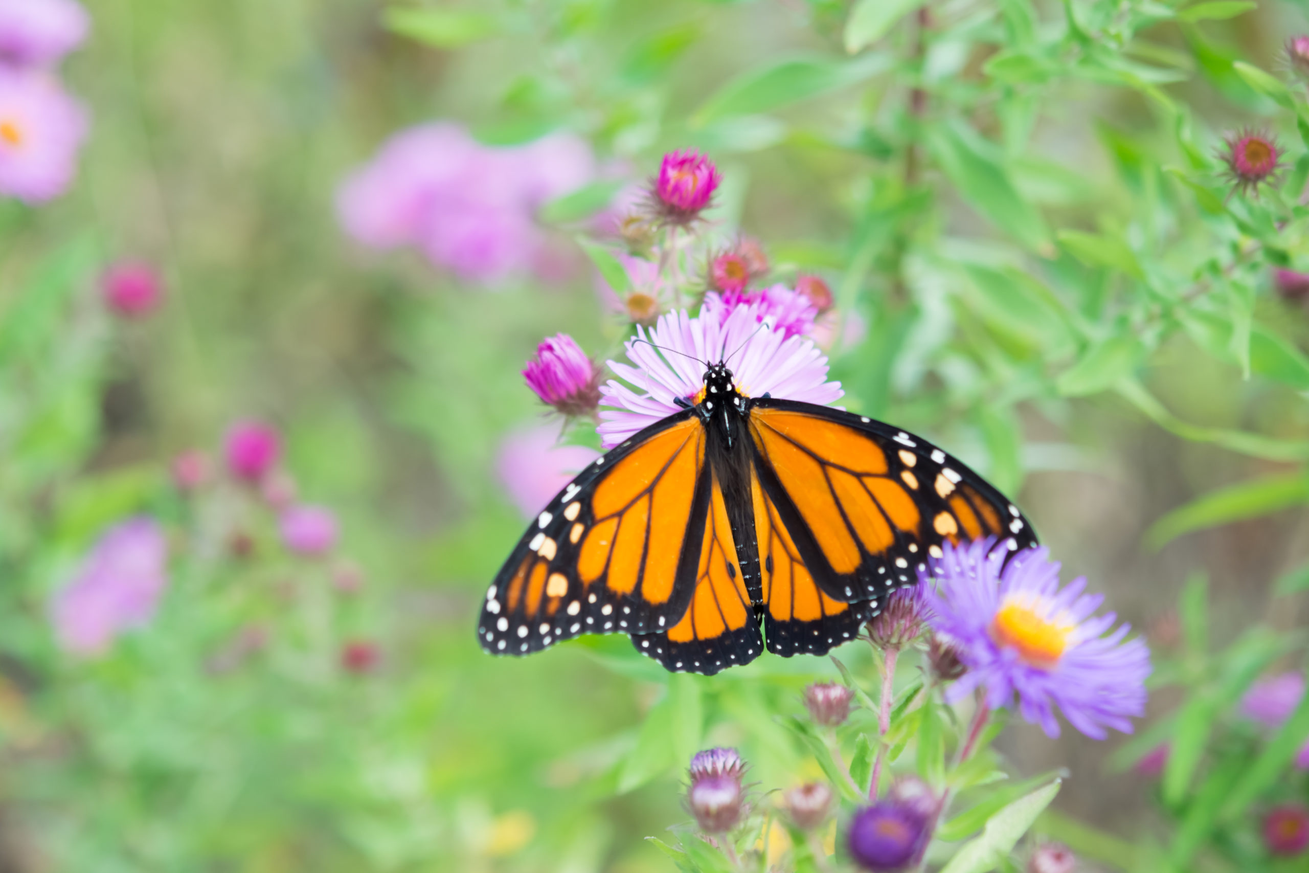
<svg viewBox="0 0 1309 873"><path fill-rule="evenodd" d="M336 207L346 232L364 245L419 246L465 280L552 279L567 264L537 224L537 209L594 173L590 148L568 134L488 147L440 122L393 136L346 179Z"/></svg>

